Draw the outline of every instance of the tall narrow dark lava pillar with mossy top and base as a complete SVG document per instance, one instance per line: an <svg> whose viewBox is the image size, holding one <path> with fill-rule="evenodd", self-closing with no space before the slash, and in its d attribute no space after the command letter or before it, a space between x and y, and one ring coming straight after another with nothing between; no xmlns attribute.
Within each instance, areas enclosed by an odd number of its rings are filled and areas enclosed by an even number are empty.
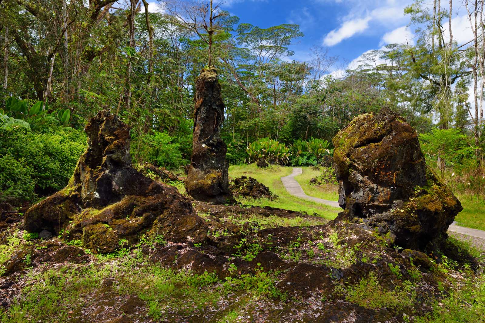
<svg viewBox="0 0 485 323"><path fill-rule="evenodd" d="M232 194L227 175L227 146L220 136L224 101L213 66L204 69L195 81L194 119L192 162L185 188L195 200L225 203L232 200Z"/></svg>

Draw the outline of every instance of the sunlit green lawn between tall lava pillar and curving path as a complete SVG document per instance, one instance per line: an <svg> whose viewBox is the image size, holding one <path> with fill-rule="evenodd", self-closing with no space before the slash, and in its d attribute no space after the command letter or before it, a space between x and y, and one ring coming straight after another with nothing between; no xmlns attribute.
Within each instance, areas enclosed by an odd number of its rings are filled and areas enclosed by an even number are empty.
<svg viewBox="0 0 485 323"><path fill-rule="evenodd" d="M322 205L316 202L299 199L288 193L288 191L281 183L281 177L290 175L292 171L291 167L285 166L271 166L266 169L261 169L256 164L250 165L232 165L229 167L229 177L236 178L242 175L251 176L268 186L274 194L278 195L276 200L268 199L241 199L239 200L244 205L254 206L271 206L280 209L287 209L298 212L307 212L308 214L316 213L327 219L334 219L341 211L338 208L334 208L328 205Z"/></svg>

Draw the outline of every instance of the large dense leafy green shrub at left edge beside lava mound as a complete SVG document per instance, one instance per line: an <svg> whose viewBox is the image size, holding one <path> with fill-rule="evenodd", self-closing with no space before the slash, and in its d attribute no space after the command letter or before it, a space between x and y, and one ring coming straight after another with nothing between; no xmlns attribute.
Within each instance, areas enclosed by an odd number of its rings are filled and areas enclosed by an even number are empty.
<svg viewBox="0 0 485 323"><path fill-rule="evenodd" d="M40 195L62 189L85 149L84 132L73 128L43 125L38 132L22 128L0 129L2 167L15 168L15 176L22 174L19 178L23 179L12 181L12 176L4 174L1 183L3 198L32 200L32 185L35 185L34 193Z"/></svg>

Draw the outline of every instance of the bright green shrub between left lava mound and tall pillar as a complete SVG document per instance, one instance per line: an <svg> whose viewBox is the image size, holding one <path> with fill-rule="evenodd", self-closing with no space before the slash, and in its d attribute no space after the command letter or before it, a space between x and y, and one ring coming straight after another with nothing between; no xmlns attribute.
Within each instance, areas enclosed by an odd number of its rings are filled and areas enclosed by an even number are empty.
<svg viewBox="0 0 485 323"><path fill-rule="evenodd" d="M185 165L187 160L182 158L180 144L174 142L174 139L166 132L155 131L153 134L142 135L131 142L133 159L168 169Z"/></svg>

